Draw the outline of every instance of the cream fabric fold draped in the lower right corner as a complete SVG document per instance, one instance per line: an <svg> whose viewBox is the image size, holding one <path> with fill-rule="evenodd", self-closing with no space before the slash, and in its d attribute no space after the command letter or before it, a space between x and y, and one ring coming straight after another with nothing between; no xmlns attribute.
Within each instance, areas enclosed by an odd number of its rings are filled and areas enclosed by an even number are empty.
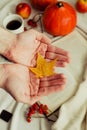
<svg viewBox="0 0 87 130"><path fill-rule="evenodd" d="M85 80L79 85L76 94L64 103L59 111L59 118L53 124L52 130L86 130L83 120L87 112L87 67L84 73Z"/></svg>

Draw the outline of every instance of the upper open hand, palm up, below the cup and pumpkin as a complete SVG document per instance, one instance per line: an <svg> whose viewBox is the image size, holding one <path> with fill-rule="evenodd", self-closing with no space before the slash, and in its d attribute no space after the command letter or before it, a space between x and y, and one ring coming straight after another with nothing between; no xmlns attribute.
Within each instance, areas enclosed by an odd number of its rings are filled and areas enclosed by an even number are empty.
<svg viewBox="0 0 87 130"><path fill-rule="evenodd" d="M69 63L67 51L54 47L48 37L35 30L17 34L15 42L11 44L4 56L13 62L33 67L36 64L38 52L49 60L58 58L56 65L59 67L64 67L66 63Z"/></svg>

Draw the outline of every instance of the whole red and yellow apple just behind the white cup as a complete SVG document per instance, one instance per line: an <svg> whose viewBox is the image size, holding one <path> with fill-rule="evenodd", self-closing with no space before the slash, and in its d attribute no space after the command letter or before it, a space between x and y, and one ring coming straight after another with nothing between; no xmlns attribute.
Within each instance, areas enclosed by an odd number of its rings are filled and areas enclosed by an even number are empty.
<svg viewBox="0 0 87 130"><path fill-rule="evenodd" d="M19 3L16 6L16 13L27 19L31 14L31 7L28 3Z"/></svg>

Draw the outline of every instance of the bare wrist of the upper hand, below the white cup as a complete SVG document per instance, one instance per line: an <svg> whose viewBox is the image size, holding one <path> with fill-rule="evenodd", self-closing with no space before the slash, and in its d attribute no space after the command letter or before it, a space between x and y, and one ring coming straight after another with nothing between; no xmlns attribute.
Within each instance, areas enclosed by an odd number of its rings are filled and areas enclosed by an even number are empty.
<svg viewBox="0 0 87 130"><path fill-rule="evenodd" d="M16 34L13 34L0 27L0 54L5 54L10 50L16 40Z"/></svg>

